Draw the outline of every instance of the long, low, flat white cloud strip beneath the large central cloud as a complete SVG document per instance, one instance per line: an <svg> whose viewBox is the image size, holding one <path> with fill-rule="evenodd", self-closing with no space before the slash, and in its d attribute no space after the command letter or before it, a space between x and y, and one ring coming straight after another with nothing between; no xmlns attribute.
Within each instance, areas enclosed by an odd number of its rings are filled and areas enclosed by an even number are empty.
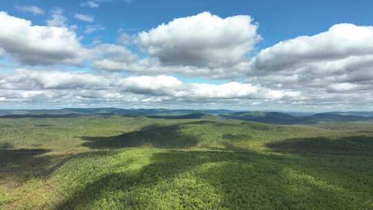
<svg viewBox="0 0 373 210"><path fill-rule="evenodd" d="M127 77L119 81L122 90L136 94L175 97L178 99L282 99L300 97L300 92L272 90L252 84L184 84L166 75Z"/></svg>

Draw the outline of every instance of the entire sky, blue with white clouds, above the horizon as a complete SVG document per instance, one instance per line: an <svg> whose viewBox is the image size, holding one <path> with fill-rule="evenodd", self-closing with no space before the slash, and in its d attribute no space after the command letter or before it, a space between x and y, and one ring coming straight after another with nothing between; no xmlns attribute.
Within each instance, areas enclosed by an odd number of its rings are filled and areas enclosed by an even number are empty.
<svg viewBox="0 0 373 210"><path fill-rule="evenodd" d="M0 2L0 108L373 111L372 1Z"/></svg>

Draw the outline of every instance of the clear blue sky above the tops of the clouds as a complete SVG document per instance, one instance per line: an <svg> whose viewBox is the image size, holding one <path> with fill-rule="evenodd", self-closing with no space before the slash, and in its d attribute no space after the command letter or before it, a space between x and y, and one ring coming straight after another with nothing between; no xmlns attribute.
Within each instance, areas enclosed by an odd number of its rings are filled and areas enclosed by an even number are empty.
<svg viewBox="0 0 373 210"><path fill-rule="evenodd" d="M372 1L141 1L131 3L121 0L99 3L99 8L79 6L83 1L3 1L1 10L11 15L31 19L43 24L46 16L35 16L17 10L15 6L35 5L46 11L62 8L67 17L77 12L95 17L95 22L107 30L90 35L88 39L99 37L113 42L117 30L122 28L128 34L149 30L160 23L167 23L177 17L187 17L209 11L220 17L250 15L260 23L258 32L264 38L258 47L268 47L284 39L300 35L314 35L327 30L336 23L354 23L371 26L373 24ZM70 19L78 26L85 23Z"/></svg>

